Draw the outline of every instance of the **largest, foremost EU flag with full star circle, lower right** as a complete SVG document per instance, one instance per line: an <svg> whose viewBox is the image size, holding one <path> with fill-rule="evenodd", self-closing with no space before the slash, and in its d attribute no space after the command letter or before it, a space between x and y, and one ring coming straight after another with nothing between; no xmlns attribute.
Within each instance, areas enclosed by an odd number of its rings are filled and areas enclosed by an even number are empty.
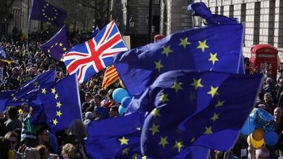
<svg viewBox="0 0 283 159"><path fill-rule="evenodd" d="M174 158L191 156L188 149L195 146L227 151L252 111L261 84L262 74L188 70L161 74L129 105L148 112L142 153Z"/></svg>

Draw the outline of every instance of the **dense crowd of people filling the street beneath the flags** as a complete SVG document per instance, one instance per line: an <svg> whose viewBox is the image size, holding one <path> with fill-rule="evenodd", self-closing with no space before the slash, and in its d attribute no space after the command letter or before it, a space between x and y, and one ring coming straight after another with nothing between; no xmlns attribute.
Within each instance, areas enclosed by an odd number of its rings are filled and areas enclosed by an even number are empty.
<svg viewBox="0 0 283 159"><path fill-rule="evenodd" d="M9 91L21 87L23 83L31 80L38 74L48 70L56 70L55 80L67 75L64 63L56 62L46 56L39 46L48 35L33 33L33 41L29 48L20 41L1 40L0 47L5 51L5 57L0 57L0 67L4 68L3 82L0 83L0 91ZM80 38L73 36L70 44L79 44ZM1 56L1 55L0 55ZM265 82L258 94L255 107L264 109L274 116L275 132L279 136L278 144L272 149L260 147L254 149L247 145L246 136L241 134L234 149L228 153L237 158L278 158L283 153L283 67L278 69L278 78L271 76L270 70L265 72ZM247 74L258 74L260 70ZM107 119L120 116L119 104L112 98L113 90L121 87L119 81L113 83L107 89L102 89L103 72L93 76L87 83L79 85L79 96L83 121L75 120L68 130L53 134L45 124L33 125L31 119L34 110L27 103L21 106L8 106L0 113L0 158L88 158L85 152L84 141L87 137L87 124L92 120ZM241 154L241 149L247 149L247 156ZM211 158L224 158L222 151L211 151Z"/></svg>

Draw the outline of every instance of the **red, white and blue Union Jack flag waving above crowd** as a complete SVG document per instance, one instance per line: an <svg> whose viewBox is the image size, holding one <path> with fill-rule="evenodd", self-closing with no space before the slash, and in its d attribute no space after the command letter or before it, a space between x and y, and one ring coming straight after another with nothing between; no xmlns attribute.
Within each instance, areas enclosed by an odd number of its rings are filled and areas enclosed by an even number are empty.
<svg viewBox="0 0 283 159"><path fill-rule="evenodd" d="M74 46L64 55L69 74L77 73L78 82L83 83L100 70L113 63L113 55L126 51L118 27L114 21L106 25L95 38Z"/></svg>

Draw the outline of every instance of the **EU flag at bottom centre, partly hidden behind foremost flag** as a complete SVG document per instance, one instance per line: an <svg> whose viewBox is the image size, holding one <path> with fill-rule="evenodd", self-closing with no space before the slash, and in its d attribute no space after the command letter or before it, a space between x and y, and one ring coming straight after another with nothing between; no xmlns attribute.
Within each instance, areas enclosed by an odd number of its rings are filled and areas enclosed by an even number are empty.
<svg viewBox="0 0 283 159"><path fill-rule="evenodd" d="M90 158L138 158L144 115L133 113L87 124L85 149Z"/></svg>

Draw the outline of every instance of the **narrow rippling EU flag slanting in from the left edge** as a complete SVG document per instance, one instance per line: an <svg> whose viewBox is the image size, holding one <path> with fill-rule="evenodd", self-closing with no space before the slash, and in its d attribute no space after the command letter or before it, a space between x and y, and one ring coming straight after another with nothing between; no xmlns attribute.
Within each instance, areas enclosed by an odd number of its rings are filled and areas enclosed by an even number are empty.
<svg viewBox="0 0 283 159"><path fill-rule="evenodd" d="M0 92L0 109L3 111L5 106L21 106L21 104L27 102L29 91L53 81L55 81L55 70L49 70L27 81L18 89Z"/></svg>

